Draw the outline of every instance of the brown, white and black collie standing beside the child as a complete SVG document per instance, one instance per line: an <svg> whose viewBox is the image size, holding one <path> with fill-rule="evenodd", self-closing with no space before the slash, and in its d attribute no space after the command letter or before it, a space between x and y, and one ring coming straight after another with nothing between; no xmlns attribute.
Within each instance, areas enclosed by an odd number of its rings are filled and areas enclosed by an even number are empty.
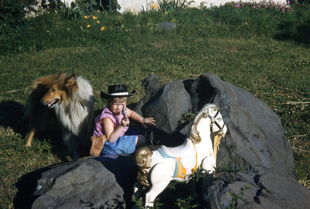
<svg viewBox="0 0 310 209"><path fill-rule="evenodd" d="M25 117L29 120L26 147L36 130L44 131L48 121L56 120L62 130L62 140L77 159L86 146L87 134L93 119L93 88L82 77L46 75L34 80L26 104Z"/></svg>

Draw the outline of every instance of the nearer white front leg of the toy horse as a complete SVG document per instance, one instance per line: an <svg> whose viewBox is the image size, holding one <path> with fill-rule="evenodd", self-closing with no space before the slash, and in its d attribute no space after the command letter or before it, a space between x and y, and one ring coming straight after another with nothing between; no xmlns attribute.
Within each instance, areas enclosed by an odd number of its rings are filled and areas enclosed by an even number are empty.
<svg viewBox="0 0 310 209"><path fill-rule="evenodd" d="M202 178L202 190L209 186L213 181L214 167L216 166L215 158L210 154L202 160L202 169L205 177Z"/></svg>

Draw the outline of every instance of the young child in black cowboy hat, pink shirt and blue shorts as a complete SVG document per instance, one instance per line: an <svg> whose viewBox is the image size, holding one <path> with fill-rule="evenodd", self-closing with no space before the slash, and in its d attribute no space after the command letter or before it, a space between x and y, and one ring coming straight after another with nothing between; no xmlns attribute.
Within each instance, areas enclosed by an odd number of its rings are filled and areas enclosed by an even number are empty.
<svg viewBox="0 0 310 209"><path fill-rule="evenodd" d="M130 123L129 119L140 122L144 128L147 128L147 125L155 125L153 118L142 118L138 113L126 107L128 98L135 93L134 90L129 94L124 84L109 86L108 93L101 91L101 98L107 99L108 104L95 118L93 132L94 136L104 134L107 137L104 138L105 143L101 154L131 154L136 148L146 145L143 135L125 135Z"/></svg>

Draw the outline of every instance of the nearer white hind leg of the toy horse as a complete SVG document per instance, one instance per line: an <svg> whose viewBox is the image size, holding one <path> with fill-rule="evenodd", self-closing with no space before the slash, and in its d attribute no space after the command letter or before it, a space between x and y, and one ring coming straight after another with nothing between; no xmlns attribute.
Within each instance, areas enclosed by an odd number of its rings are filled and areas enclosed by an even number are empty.
<svg viewBox="0 0 310 209"><path fill-rule="evenodd" d="M152 187L149 192L145 194L145 207L154 207L154 200L172 180L174 164L159 163L152 168L150 180Z"/></svg>

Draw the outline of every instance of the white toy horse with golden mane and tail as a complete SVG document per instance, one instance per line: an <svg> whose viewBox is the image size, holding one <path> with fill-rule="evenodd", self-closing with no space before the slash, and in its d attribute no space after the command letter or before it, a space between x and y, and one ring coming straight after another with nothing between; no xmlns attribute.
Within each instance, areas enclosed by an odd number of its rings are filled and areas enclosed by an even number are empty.
<svg viewBox="0 0 310 209"><path fill-rule="evenodd" d="M214 149L211 132L217 134ZM210 174L212 181L219 139L226 132L227 127L217 105L205 104L195 117L189 137L183 145L174 148L161 146L155 151L147 147L138 149L134 160L139 167L139 183L135 184L134 196L140 198L142 186L151 187L145 194L145 207L151 207L171 180L186 181L197 169L205 175Z"/></svg>

